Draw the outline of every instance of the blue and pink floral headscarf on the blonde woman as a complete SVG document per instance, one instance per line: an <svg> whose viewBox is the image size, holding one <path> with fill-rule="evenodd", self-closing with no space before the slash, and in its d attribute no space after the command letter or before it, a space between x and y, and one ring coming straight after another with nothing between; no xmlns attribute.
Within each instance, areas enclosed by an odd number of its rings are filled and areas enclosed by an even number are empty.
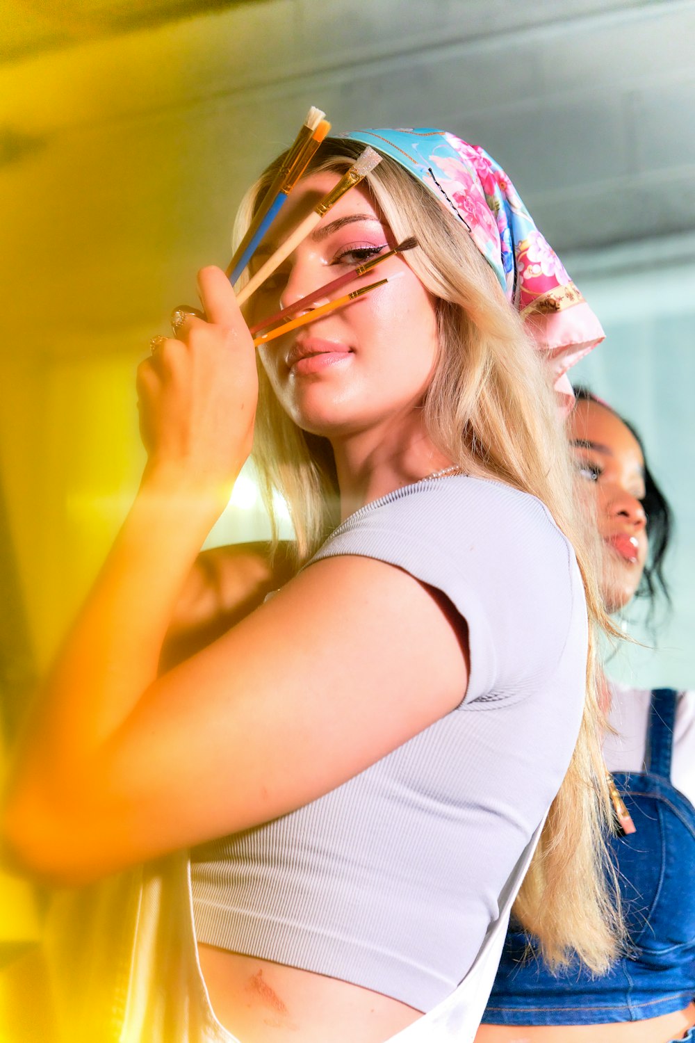
<svg viewBox="0 0 695 1043"><path fill-rule="evenodd" d="M605 335L502 168L478 145L429 127L350 130L341 137L395 160L463 221L510 304L547 353L555 390L571 404L567 370Z"/></svg>

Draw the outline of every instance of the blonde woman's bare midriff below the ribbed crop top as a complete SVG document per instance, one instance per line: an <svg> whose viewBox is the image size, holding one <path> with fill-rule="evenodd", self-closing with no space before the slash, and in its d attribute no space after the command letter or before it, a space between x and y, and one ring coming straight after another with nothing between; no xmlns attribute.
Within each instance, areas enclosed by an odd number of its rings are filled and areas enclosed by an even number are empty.
<svg viewBox="0 0 695 1043"><path fill-rule="evenodd" d="M213 1010L240 1043L383 1043L422 1017L338 978L199 945Z"/></svg>

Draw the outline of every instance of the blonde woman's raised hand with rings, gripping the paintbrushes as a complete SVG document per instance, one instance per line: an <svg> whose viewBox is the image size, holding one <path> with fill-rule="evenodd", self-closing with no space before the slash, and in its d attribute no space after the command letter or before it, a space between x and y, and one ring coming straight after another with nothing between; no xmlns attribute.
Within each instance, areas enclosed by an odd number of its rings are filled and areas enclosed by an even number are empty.
<svg viewBox="0 0 695 1043"><path fill-rule="evenodd" d="M206 318L187 315L138 370L144 482L193 486L225 504L251 452L255 348L220 268L198 273Z"/></svg>

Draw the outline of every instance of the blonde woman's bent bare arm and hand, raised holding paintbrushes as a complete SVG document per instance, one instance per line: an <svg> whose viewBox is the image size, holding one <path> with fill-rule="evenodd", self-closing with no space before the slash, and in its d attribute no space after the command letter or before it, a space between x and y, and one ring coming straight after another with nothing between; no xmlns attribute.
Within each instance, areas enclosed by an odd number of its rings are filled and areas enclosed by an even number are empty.
<svg viewBox="0 0 695 1043"><path fill-rule="evenodd" d="M46 686L5 832L33 872L80 881L248 828L362 771L462 699L448 603L371 559L291 580L158 674L180 591L248 455L253 349L218 269L205 312L141 378L148 468Z"/></svg>

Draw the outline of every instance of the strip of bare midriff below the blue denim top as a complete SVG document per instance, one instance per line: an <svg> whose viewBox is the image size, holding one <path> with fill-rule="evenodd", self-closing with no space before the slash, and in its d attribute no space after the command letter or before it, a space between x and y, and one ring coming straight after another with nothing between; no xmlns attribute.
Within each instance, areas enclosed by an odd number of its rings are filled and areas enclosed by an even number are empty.
<svg viewBox="0 0 695 1043"><path fill-rule="evenodd" d="M644 1021L595 1025L480 1025L475 1043L670 1043L695 1024L695 1002Z"/></svg>

